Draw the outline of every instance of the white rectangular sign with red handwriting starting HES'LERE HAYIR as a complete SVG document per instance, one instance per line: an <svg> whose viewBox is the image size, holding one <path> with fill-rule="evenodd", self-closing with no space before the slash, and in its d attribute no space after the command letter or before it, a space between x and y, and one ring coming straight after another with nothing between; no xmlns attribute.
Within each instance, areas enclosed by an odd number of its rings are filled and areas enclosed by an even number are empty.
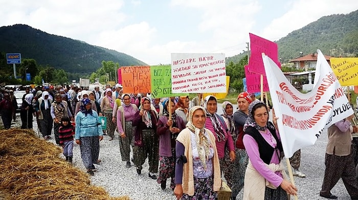
<svg viewBox="0 0 358 200"><path fill-rule="evenodd" d="M172 93L225 93L225 54L171 54Z"/></svg>

